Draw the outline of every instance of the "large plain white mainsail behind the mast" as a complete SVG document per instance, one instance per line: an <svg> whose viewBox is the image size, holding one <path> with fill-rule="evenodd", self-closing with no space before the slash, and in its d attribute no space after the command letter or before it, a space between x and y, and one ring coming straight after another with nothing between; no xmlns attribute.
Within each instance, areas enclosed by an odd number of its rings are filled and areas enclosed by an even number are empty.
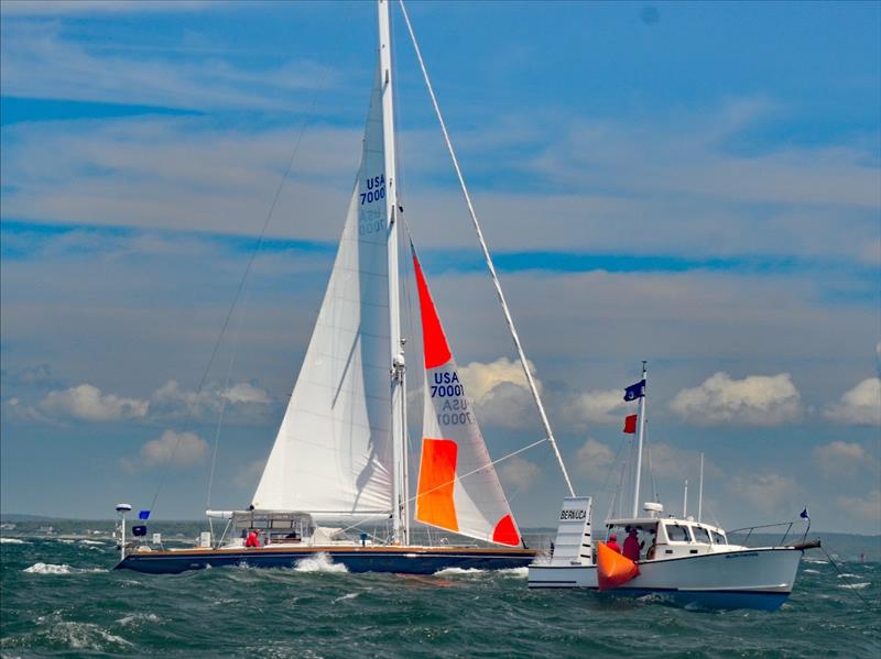
<svg viewBox="0 0 881 659"><path fill-rule="evenodd" d="M385 180L378 70L334 271L255 508L392 508Z"/></svg>

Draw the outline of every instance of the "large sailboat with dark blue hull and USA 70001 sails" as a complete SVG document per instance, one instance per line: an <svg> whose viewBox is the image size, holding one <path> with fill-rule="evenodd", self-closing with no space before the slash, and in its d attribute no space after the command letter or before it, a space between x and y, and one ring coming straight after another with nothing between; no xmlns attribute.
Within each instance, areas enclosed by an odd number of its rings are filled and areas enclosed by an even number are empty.
<svg viewBox="0 0 881 659"><path fill-rule="evenodd" d="M241 563L292 567L322 554L351 572L429 574L446 568L521 568L535 558L487 451L412 242L424 414L417 491L410 494L389 2L379 0L378 8L379 63L357 184L315 329L251 505L207 510L211 519L226 519L219 539L206 531L198 547L163 549L143 541L145 525L131 529L141 540L126 541L124 516L131 506L120 504L118 569L177 573ZM513 339L525 363L515 332ZM540 411L546 422L541 404ZM411 537L415 524L480 545L457 546L446 538L434 546L416 543Z"/></svg>

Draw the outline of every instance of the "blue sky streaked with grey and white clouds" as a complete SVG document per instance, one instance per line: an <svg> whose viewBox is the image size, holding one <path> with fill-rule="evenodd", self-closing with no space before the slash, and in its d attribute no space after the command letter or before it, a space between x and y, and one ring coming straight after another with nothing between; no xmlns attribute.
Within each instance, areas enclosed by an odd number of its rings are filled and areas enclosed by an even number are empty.
<svg viewBox="0 0 881 659"><path fill-rule="evenodd" d="M410 12L579 490L608 505L612 392L646 359L672 507L704 451L728 526L809 503L819 528L879 532L881 3ZM341 229L373 6L4 2L2 19L2 510L145 505L189 432L156 514L196 517L221 408L213 505L247 505ZM406 216L501 455L541 429L394 28ZM521 521L551 524L547 451L500 472Z"/></svg>

